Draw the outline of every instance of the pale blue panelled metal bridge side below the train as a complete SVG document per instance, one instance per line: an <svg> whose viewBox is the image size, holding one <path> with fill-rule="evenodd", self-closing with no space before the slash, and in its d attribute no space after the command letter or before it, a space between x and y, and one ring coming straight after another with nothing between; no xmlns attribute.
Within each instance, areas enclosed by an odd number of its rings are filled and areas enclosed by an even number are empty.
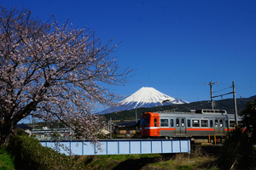
<svg viewBox="0 0 256 170"><path fill-rule="evenodd" d="M108 139L99 140L101 150L88 140L76 141L41 141L43 146L61 153L79 156L121 155L121 154L156 154L156 153L190 153L189 139ZM61 146L62 147L61 147ZM69 153L67 150L72 150Z"/></svg>

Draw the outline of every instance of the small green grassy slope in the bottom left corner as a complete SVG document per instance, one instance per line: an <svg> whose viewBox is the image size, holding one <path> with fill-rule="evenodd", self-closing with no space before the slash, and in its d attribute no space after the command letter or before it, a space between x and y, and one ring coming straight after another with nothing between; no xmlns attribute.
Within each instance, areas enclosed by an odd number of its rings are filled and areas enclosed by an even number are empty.
<svg viewBox="0 0 256 170"><path fill-rule="evenodd" d="M0 170L15 170L14 159L11 158L5 146L0 146Z"/></svg>

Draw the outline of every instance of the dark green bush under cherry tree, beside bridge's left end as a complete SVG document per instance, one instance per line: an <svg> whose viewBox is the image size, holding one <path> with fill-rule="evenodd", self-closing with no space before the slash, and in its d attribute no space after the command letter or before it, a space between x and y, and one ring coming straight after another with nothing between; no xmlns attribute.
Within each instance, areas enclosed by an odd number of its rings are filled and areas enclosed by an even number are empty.
<svg viewBox="0 0 256 170"><path fill-rule="evenodd" d="M81 169L82 166L77 162L78 156L65 156L22 134L12 136L9 152L15 158L17 170Z"/></svg>

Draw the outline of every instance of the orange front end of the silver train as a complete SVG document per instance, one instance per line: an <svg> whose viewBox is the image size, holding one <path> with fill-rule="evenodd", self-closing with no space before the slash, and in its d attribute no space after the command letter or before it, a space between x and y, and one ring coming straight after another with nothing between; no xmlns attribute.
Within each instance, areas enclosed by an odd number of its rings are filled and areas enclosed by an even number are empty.
<svg viewBox="0 0 256 170"><path fill-rule="evenodd" d="M140 123L140 137L151 138L159 137L160 133L159 114L152 112L145 112L141 115Z"/></svg>

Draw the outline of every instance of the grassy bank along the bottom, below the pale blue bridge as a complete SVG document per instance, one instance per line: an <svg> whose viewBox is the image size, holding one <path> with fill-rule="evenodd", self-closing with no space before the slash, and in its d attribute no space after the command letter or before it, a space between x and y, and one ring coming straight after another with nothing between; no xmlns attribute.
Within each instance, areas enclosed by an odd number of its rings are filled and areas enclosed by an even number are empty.
<svg viewBox="0 0 256 170"><path fill-rule="evenodd" d="M81 156L88 169L173 169L218 170L216 157L198 154L142 154L113 156Z"/></svg>

